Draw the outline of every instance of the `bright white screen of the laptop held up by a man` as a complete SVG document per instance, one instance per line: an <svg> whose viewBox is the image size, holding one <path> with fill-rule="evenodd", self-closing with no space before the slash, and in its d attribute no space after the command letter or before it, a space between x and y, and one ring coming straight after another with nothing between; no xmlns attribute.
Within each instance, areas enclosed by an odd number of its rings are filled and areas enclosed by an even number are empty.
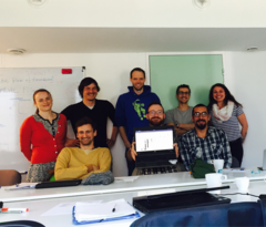
<svg viewBox="0 0 266 227"><path fill-rule="evenodd" d="M173 151L173 127L135 130L136 152Z"/></svg>

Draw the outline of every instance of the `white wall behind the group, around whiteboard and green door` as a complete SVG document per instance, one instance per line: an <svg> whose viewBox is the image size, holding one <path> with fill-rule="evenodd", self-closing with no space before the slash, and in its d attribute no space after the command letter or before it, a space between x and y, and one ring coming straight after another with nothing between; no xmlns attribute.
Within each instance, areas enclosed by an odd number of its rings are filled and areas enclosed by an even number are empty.
<svg viewBox="0 0 266 227"><path fill-rule="evenodd" d="M172 53L173 54L173 53ZM184 54L184 53L182 53ZM260 166L266 148L266 52L224 52L225 84L244 105L248 133L244 144L243 166ZM135 66L149 71L146 53L91 53L91 54L0 54L1 68L85 66L86 76L95 78L101 86L99 99L113 104L130 85L129 72ZM109 125L109 133L111 133ZM124 146L117 138L114 148L114 175L126 174Z"/></svg>

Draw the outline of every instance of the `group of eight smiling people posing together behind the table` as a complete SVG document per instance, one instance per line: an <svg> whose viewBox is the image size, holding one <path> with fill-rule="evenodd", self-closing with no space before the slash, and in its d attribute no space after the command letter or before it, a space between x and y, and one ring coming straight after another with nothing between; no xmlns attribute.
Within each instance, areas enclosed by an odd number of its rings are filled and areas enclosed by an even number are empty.
<svg viewBox="0 0 266 227"><path fill-rule="evenodd" d="M116 106L98 100L98 82L85 78L79 85L80 103L65 107L61 113L52 111L52 95L47 90L33 94L35 114L21 125L21 152L31 162L28 182L85 178L92 173L111 168L110 148L120 133L125 145L129 175L135 169L134 127L173 125L174 151L178 171L190 171L196 158L205 162L224 159L231 167L232 156L242 164L243 142L247 134L247 121L242 105L224 84L214 84L209 90L208 106L188 106L191 89L182 84L176 89L177 107L164 113L158 96L144 85L145 72L135 68L130 73L132 86L119 96ZM108 138L106 123L113 123ZM70 122L76 140L66 137ZM242 130L239 128L239 123Z"/></svg>

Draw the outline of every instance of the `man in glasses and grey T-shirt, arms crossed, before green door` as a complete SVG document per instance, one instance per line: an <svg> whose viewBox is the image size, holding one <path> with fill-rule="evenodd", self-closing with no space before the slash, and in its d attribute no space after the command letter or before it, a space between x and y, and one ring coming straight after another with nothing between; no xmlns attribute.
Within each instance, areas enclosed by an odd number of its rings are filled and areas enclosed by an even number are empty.
<svg viewBox="0 0 266 227"><path fill-rule="evenodd" d="M187 131L194 127L192 122L192 106L188 106L191 97L191 89L186 84L182 84L176 89L176 99L178 106L170 110L165 114L164 123L167 125L174 125L177 135L183 135Z"/></svg>

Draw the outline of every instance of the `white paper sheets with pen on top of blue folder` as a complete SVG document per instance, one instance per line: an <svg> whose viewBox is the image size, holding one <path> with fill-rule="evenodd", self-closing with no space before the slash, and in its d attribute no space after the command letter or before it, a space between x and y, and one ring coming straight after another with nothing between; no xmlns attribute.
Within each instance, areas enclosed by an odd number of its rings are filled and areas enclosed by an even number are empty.
<svg viewBox="0 0 266 227"><path fill-rule="evenodd" d="M115 211L112 211L115 207ZM125 199L112 200L101 204L75 204L75 219L82 220L99 220L114 217L123 217L135 214L135 209L127 204Z"/></svg>

